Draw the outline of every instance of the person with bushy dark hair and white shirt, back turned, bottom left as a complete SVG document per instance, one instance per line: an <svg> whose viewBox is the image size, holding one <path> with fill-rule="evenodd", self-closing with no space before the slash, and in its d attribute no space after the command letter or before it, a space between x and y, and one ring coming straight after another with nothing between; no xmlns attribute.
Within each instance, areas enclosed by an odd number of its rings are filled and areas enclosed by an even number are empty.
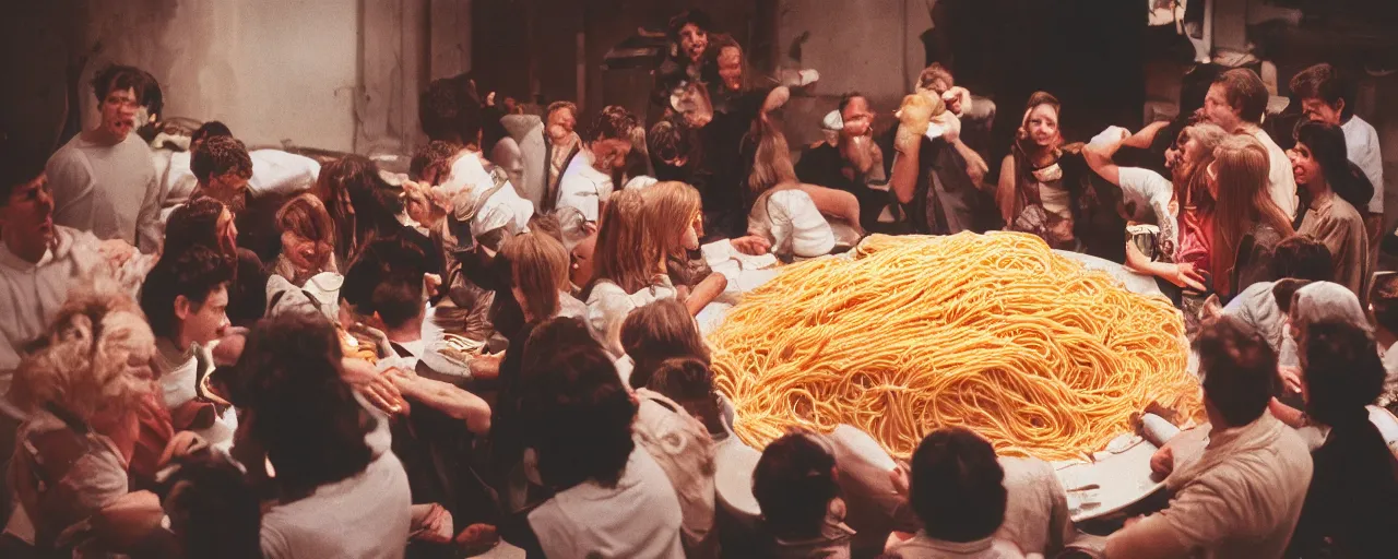
<svg viewBox="0 0 1398 559"><path fill-rule="evenodd" d="M341 356L323 317L284 314L257 324L238 362L229 400L243 415L233 456L275 471L261 523L268 559L397 558L408 542L410 486L387 418L355 397ZM249 472L268 485L266 470Z"/></svg>

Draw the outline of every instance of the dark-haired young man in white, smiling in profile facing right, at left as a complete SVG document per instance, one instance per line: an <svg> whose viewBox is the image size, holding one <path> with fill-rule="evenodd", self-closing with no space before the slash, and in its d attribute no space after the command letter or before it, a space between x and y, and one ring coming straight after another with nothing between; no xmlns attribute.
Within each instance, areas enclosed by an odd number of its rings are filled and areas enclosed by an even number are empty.
<svg viewBox="0 0 1398 559"><path fill-rule="evenodd" d="M212 345L228 327L233 266L203 246L161 259L141 286L141 310L155 333L155 359L165 408L176 429L211 444L232 443L238 416L207 390Z"/></svg>

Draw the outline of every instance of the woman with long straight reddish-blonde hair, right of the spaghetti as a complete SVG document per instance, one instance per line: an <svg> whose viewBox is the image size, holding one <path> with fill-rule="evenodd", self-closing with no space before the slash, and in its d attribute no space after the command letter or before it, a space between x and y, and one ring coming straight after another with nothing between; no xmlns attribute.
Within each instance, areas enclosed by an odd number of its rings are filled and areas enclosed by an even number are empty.
<svg viewBox="0 0 1398 559"><path fill-rule="evenodd" d="M1205 168L1213 212L1213 291L1227 299L1267 280L1272 247L1295 233L1292 219L1268 193L1267 147L1251 136L1230 136Z"/></svg>

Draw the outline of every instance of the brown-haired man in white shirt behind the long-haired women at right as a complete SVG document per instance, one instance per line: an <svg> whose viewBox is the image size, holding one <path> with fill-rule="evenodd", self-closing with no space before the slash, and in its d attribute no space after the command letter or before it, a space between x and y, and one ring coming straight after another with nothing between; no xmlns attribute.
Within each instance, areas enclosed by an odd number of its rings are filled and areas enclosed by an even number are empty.
<svg viewBox="0 0 1398 559"><path fill-rule="evenodd" d="M1292 175L1292 161L1261 126L1267 99L1267 85L1257 73L1233 68L1213 80L1208 95L1204 96L1204 117L1229 133L1251 134L1267 147L1271 164L1267 190L1282 212L1296 217L1296 177Z"/></svg>

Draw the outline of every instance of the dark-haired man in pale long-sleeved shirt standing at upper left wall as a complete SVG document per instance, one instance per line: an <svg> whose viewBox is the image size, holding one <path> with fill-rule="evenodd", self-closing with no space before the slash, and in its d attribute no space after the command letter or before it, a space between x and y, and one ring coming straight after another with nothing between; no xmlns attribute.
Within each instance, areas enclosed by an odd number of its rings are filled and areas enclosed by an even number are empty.
<svg viewBox="0 0 1398 559"><path fill-rule="evenodd" d="M151 148L136 130L147 74L112 66L92 78L102 123L74 136L49 159L53 222L159 250L159 184Z"/></svg>

